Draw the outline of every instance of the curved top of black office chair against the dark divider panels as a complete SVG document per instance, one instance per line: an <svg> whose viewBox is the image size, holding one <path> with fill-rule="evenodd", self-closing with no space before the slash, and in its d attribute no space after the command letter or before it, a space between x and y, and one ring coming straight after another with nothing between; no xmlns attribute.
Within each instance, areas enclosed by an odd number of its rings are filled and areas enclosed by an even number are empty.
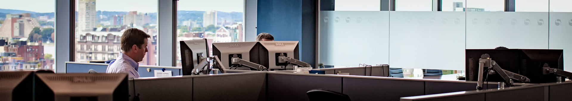
<svg viewBox="0 0 572 101"><path fill-rule="evenodd" d="M349 96L340 92L314 89L306 92L310 101L351 101Z"/></svg>

